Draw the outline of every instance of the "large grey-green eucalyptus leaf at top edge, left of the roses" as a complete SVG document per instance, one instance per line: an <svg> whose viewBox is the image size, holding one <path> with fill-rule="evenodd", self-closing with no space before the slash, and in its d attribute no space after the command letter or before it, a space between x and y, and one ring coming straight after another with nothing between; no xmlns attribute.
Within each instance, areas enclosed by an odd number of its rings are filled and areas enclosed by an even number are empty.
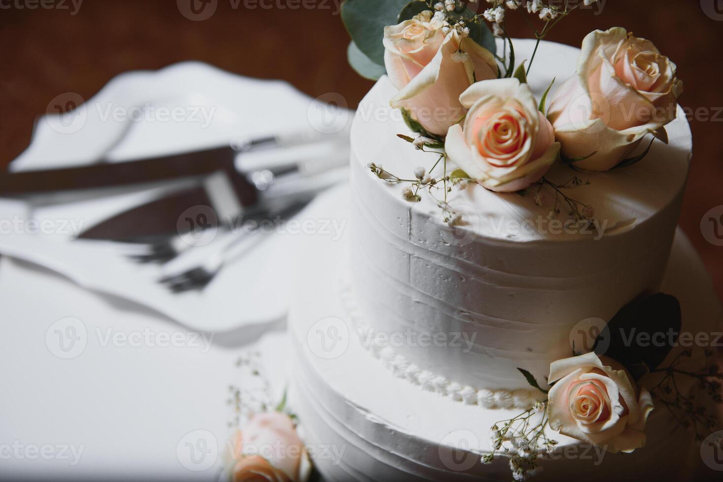
<svg viewBox="0 0 723 482"><path fill-rule="evenodd" d="M351 40L365 56L384 65L384 27L396 25L398 12L409 0L345 0L341 4L341 19Z"/></svg>

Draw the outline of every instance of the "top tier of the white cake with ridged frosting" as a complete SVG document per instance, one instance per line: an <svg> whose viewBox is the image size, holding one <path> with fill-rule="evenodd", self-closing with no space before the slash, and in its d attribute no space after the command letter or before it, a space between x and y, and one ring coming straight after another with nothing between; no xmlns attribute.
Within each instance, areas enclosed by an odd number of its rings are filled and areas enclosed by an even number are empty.
<svg viewBox="0 0 723 482"><path fill-rule="evenodd" d="M519 59L530 58L532 48L533 40L515 40ZM552 72L558 81L561 73L574 74L578 53L540 45L530 78L538 99ZM416 167L429 170L437 160L396 136L414 134L389 107L395 93L382 77L354 118L351 282L364 323L383 334L369 342L385 343L404 369L444 386L524 389L529 386L518 367L545 380L550 362L571 355L577 323L609 320L642 292L657 289L691 157L680 107L667 126L669 144L655 141L636 165L578 172L557 162L547 172L557 185L575 177L583 182L562 192L594 208L597 229L565 224L565 201L549 185L522 194L473 183L448 193L450 207L462 216L450 227L437 205L442 189L433 190L434 197L424 190L421 201L411 202L403 198L403 184L386 183L369 170L374 162L413 179ZM445 168L450 173L455 167L440 162L435 173ZM555 202L560 214L549 216Z"/></svg>

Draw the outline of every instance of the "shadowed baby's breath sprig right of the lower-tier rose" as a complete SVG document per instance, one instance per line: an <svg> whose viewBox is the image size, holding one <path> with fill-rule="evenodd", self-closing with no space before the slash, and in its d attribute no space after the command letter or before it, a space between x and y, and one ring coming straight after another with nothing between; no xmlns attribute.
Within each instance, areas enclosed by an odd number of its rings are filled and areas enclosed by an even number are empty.
<svg viewBox="0 0 723 482"><path fill-rule="evenodd" d="M671 362L669 367L653 370L651 373L662 372L664 376L651 390L656 402L661 403L678 424L695 431L696 440L702 441L719 424L716 413L696 397L697 393L683 393L678 383L681 377L693 378L698 382L698 388L706 393L713 403L723 403L721 393L721 380L723 373L714 362L714 354L706 349L703 367L697 371L682 369L680 364L692 355L690 349L681 351Z"/></svg>

